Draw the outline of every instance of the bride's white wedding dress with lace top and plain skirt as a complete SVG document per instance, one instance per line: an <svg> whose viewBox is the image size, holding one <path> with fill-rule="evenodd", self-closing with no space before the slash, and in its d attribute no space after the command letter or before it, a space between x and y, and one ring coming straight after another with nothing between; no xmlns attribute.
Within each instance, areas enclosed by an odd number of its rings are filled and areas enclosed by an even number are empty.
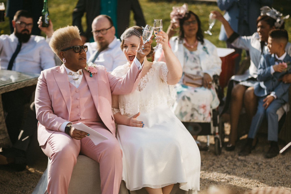
<svg viewBox="0 0 291 194"><path fill-rule="evenodd" d="M128 69L127 63L112 74L123 76ZM180 183L186 191L199 190L200 152L170 108L176 92L166 83L167 73L164 62L154 62L136 90L118 96L120 113L131 117L140 112L137 120L145 124L143 128L118 125L117 138L123 151L122 179L130 191L174 183Z"/></svg>

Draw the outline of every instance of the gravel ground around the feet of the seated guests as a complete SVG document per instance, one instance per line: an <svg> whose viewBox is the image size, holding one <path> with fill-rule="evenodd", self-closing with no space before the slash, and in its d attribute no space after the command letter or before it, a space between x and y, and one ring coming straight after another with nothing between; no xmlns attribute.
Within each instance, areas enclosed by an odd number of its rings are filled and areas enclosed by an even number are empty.
<svg viewBox="0 0 291 194"><path fill-rule="evenodd" d="M229 125L226 124L226 134ZM227 137L227 136L226 136ZM244 194L253 189L276 188L291 192L291 151L272 159L265 159L268 150L266 136L259 137L259 143L249 156L238 156L245 137L239 140L235 151L224 149L220 156L214 154L214 139L210 138L210 151L201 151L201 194L214 194L213 186L224 189L221 193ZM206 136L198 136L206 143ZM225 138L225 141L228 141ZM37 146L35 142L31 147ZM282 148L284 145L280 144ZM0 193L31 193L46 169L47 157L37 147L30 149L29 162L22 172L13 166L0 165Z"/></svg>

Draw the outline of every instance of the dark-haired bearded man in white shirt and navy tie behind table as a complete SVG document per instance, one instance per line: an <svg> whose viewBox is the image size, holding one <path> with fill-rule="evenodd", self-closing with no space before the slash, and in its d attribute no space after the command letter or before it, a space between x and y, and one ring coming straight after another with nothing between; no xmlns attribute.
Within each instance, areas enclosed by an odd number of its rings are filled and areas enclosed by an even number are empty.
<svg viewBox="0 0 291 194"><path fill-rule="evenodd" d="M33 19L28 11L17 11L12 25L14 32L11 35L0 36L1 69L40 73L55 66L54 54L45 38L31 35ZM25 105L32 102L35 88L36 86L31 86L2 94L5 123L13 147L0 148L0 164L16 163L21 169L25 167L25 152L30 136L36 131L37 120L35 112L31 110L26 114L26 119L23 119L23 112ZM29 115L33 121L28 119ZM25 122L22 123L22 120ZM22 136L18 138L22 129Z"/></svg>

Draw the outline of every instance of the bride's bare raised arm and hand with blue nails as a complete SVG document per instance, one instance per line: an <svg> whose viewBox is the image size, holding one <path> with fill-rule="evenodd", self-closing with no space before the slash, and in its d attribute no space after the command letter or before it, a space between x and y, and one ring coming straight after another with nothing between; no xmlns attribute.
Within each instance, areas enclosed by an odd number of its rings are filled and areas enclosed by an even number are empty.
<svg viewBox="0 0 291 194"><path fill-rule="evenodd" d="M164 31L157 32L155 39L156 42L162 44L164 51L164 58L168 69L167 83L169 85L174 85L178 83L182 76L182 66L178 58L173 53L172 49L168 45L168 35ZM162 72L160 71L160 74Z"/></svg>

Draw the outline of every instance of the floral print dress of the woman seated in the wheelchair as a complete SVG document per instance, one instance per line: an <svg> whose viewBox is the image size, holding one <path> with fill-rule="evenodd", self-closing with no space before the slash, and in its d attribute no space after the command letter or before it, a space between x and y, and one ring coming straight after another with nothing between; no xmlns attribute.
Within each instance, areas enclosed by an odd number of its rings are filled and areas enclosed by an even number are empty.
<svg viewBox="0 0 291 194"><path fill-rule="evenodd" d="M189 51L184 48L183 75L176 84L177 100L174 104L175 115L182 122L210 122L211 109L217 108L219 99L213 86L191 87L183 84L184 73L203 76L199 50Z"/></svg>

